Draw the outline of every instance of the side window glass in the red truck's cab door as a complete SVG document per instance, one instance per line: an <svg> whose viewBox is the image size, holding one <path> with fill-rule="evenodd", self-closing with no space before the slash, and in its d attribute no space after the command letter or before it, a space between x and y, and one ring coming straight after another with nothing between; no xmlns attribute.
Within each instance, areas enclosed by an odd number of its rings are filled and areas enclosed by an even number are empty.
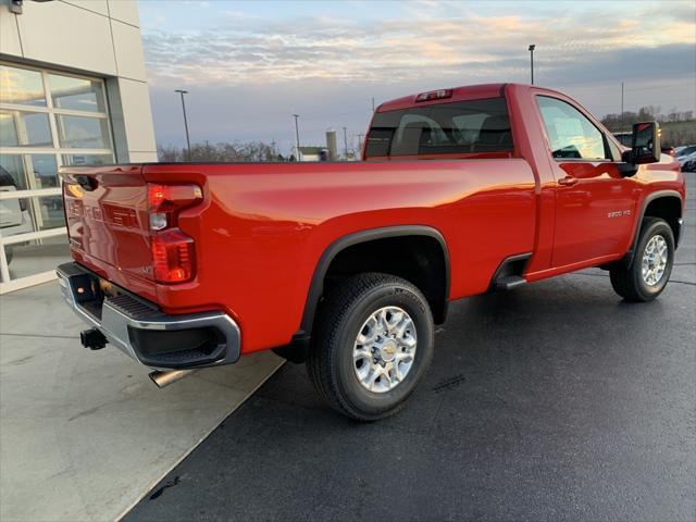
<svg viewBox="0 0 696 522"><path fill-rule="evenodd" d="M547 96L537 97L554 158L611 159L601 132L570 103Z"/></svg>

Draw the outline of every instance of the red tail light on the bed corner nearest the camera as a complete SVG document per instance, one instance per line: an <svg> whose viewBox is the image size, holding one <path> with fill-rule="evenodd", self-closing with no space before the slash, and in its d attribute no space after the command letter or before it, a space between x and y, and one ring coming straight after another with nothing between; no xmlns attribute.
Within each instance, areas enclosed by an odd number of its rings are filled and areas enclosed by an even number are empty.
<svg viewBox="0 0 696 522"><path fill-rule="evenodd" d="M178 213L201 201L197 185L148 184L148 219L154 279L183 283L196 272L194 239L178 227Z"/></svg>

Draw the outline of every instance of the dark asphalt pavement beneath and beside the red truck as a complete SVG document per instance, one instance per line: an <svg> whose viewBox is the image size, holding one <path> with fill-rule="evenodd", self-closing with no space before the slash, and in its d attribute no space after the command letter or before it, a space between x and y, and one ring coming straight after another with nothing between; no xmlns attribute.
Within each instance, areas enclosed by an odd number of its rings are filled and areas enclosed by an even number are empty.
<svg viewBox="0 0 696 522"><path fill-rule="evenodd" d="M125 520L696 520L688 188L657 301L587 270L453 303L409 407L373 424L285 364Z"/></svg>

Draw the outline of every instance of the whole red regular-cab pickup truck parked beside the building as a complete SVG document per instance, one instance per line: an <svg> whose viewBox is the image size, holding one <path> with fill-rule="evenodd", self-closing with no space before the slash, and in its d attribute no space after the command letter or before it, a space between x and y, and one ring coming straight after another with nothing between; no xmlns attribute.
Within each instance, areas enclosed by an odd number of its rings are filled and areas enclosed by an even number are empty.
<svg viewBox="0 0 696 522"><path fill-rule="evenodd" d="M656 123L631 149L568 96L517 84L374 113L361 162L65 167L67 303L165 385L259 350L306 361L339 412L397 411L450 301L600 266L667 285L685 187Z"/></svg>

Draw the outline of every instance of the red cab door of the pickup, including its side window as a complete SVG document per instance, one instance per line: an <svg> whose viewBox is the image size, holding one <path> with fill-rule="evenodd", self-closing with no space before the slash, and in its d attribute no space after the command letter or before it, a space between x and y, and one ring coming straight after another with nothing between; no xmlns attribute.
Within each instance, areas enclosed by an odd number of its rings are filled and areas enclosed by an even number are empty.
<svg viewBox="0 0 696 522"><path fill-rule="evenodd" d="M635 182L622 177L618 148L579 108L537 96L556 177L552 266L625 249L635 212Z"/></svg>

